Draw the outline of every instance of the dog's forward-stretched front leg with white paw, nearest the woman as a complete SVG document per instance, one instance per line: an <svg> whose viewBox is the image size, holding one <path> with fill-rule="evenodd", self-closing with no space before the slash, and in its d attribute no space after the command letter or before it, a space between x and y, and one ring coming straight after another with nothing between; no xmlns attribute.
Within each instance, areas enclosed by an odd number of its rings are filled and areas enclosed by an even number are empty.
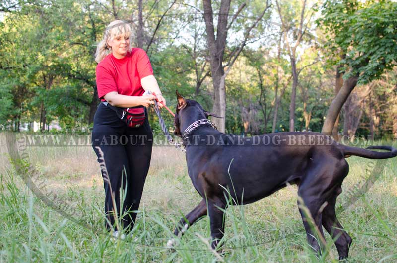
<svg viewBox="0 0 397 263"><path fill-rule="evenodd" d="M182 217L179 220L174 235L177 237L182 237L183 233L188 230L190 226L192 226L197 220L199 220L202 216L207 214L207 205L205 200L202 199L198 206L196 206L190 213L188 213L185 217ZM168 240L167 247L172 248L175 244L175 239L172 238Z"/></svg>

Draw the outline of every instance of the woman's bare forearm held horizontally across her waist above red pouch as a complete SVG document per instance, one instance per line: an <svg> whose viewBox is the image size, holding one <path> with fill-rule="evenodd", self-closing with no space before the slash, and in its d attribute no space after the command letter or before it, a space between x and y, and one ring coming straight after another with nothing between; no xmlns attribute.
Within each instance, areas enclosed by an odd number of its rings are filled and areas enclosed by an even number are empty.
<svg viewBox="0 0 397 263"><path fill-rule="evenodd" d="M153 100L156 99L154 95L143 95L143 96L127 96L117 93L117 91L111 91L103 96L104 99L112 106L127 108L135 106L148 107L154 104Z"/></svg>

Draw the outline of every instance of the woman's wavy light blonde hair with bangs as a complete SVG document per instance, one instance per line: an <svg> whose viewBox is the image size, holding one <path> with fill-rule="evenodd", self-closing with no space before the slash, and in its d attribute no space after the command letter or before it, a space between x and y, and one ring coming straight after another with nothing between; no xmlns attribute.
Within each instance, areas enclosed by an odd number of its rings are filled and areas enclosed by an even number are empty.
<svg viewBox="0 0 397 263"><path fill-rule="evenodd" d="M108 40L113 40L116 36L120 34L125 34L130 38L128 51L131 51L133 32L130 24L122 20L115 20L105 28L103 39L98 43L96 47L95 61L97 63L100 63L108 54L112 52L112 48L108 45Z"/></svg>

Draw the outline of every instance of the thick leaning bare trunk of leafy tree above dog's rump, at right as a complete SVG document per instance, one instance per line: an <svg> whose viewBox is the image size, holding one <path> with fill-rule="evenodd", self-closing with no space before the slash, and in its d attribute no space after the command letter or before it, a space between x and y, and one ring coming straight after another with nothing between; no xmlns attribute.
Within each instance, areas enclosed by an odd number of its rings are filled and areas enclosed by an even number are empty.
<svg viewBox="0 0 397 263"><path fill-rule="evenodd" d="M349 97L350 93L357 85L357 80L358 75L352 76L344 81L342 88L340 89L336 97L332 100L330 108L328 109L327 117L324 121L321 133L331 135L336 118L339 115L339 112L342 109L343 104Z"/></svg>

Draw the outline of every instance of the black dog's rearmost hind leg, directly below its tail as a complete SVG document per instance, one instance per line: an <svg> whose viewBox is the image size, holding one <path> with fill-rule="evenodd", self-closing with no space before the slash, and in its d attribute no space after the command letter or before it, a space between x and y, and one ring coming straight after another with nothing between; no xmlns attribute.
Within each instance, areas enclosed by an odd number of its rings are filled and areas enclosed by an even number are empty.
<svg viewBox="0 0 397 263"><path fill-rule="evenodd" d="M334 194L329 198L328 205L323 210L323 226L331 235L335 242L336 249L339 254L339 260L345 259L349 253L351 237L343 229L342 225L336 218L335 203L336 197L342 192L342 188L338 186Z"/></svg>

